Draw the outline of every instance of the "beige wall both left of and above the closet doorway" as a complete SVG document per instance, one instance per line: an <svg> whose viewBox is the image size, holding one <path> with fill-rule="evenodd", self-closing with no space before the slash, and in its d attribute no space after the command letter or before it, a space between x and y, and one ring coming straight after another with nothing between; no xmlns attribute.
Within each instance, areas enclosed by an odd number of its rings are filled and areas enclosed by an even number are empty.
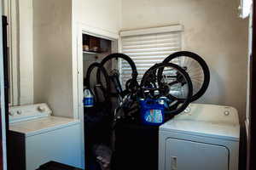
<svg viewBox="0 0 256 170"><path fill-rule="evenodd" d="M83 25L118 35L120 4L119 0L33 0L35 103L47 102L58 116L76 115L76 30Z"/></svg>

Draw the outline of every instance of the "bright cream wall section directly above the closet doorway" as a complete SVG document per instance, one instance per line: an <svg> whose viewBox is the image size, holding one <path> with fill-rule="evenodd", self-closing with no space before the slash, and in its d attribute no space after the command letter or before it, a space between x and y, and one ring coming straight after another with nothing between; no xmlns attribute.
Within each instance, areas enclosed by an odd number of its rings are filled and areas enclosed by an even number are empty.
<svg viewBox="0 0 256 170"><path fill-rule="evenodd" d="M80 23L118 34L120 9L119 0L73 0L74 24Z"/></svg>

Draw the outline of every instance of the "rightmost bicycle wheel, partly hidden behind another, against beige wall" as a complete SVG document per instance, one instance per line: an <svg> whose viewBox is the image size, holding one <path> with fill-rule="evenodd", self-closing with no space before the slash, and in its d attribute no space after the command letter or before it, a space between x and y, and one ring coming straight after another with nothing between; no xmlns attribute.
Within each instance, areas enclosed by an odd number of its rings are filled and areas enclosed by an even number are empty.
<svg viewBox="0 0 256 170"><path fill-rule="evenodd" d="M190 102L199 99L209 86L210 71L207 63L198 54L189 51L180 51L169 55L163 63L172 62L183 68L188 74L193 84L193 95Z"/></svg>

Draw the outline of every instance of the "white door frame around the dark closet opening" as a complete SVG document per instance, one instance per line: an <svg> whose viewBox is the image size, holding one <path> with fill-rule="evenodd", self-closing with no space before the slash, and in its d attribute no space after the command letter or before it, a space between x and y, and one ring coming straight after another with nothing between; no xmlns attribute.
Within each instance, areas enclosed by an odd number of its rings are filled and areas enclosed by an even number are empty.
<svg viewBox="0 0 256 170"><path fill-rule="evenodd" d="M73 24L73 118L81 122L81 152L82 167L84 167L84 105L83 105L83 40L82 34L90 34L96 37L103 37L111 41L118 41L119 35L100 28L84 25L82 23Z"/></svg>

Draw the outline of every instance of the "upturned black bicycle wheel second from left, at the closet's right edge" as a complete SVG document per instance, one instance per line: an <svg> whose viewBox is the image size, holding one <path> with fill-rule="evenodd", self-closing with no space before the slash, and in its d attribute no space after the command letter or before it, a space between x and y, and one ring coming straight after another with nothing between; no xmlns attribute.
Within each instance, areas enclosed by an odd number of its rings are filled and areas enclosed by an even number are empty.
<svg viewBox="0 0 256 170"><path fill-rule="evenodd" d="M115 59L115 60L114 60ZM102 59L102 62L101 62L101 65L103 67L105 67L106 70L108 70L108 76L112 76L112 72L115 72L115 75L120 75L119 73L117 73L117 68L115 68L113 66L113 63L117 63L117 59L123 59L124 62L125 62L125 65L130 65L130 68L131 68L131 75L128 75L125 77L125 81L124 82L119 82L119 77L115 76L115 77L112 77L112 80L111 80L111 84L113 84L114 82L114 85L112 86L117 86L118 84L122 84L123 86L122 87L125 87L125 90L123 90L123 88L121 88L120 90L119 89L114 89L113 87L111 87L111 91L110 91L110 94L111 95L125 95L127 94L128 92L135 92L138 88L138 83L137 83L137 67L135 65L135 63L133 62L133 60L125 55L125 54L119 54L119 53L116 53L116 54L109 54L107 57L105 57L104 59ZM100 82L100 77L101 77L101 74L100 72L97 72L97 79L98 81ZM114 79L114 80L113 80ZM127 81L129 80L129 81ZM126 82L129 82L129 84L126 84ZM128 92L127 92L128 91Z"/></svg>

